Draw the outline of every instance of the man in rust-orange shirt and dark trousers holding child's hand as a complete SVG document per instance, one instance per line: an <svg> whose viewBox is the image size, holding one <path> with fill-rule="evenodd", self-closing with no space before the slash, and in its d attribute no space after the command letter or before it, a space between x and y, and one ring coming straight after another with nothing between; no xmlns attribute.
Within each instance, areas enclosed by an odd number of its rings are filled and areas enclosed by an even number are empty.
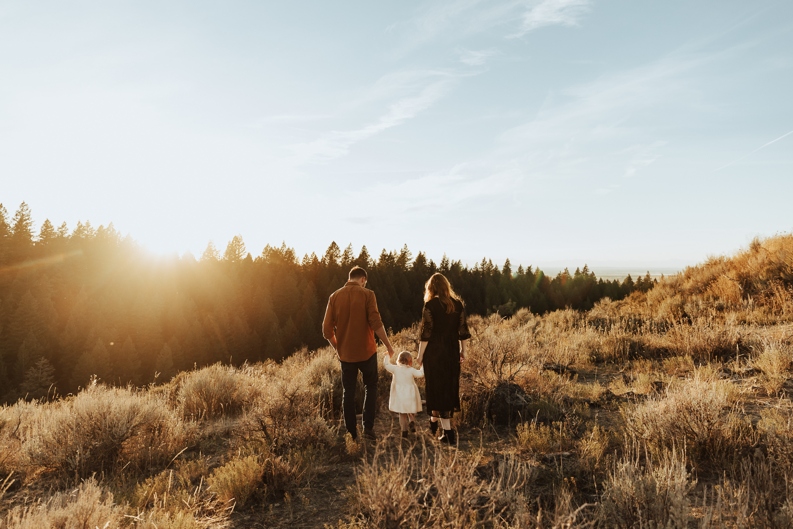
<svg viewBox="0 0 793 529"><path fill-rule="evenodd" d="M342 364L342 409L344 426L353 439L358 439L355 420L355 386L361 371L366 396L363 401L363 435L374 435L374 412L377 401L377 343L374 335L383 341L389 355L394 354L389 337L385 334L374 292L366 286L366 270L355 266L350 270L347 285L336 290L328 299L328 309L322 324L322 335L339 355Z"/></svg>

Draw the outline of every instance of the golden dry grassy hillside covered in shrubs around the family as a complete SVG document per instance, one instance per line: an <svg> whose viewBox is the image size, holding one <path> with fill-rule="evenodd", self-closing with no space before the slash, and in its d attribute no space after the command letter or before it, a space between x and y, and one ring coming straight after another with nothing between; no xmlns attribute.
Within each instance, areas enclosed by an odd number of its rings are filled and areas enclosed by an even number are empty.
<svg viewBox="0 0 793 529"><path fill-rule="evenodd" d="M784 235L588 312L472 316L455 449L423 413L400 439L382 368L380 441L345 438L328 348L20 401L0 527L791 527L791 285Z"/></svg>

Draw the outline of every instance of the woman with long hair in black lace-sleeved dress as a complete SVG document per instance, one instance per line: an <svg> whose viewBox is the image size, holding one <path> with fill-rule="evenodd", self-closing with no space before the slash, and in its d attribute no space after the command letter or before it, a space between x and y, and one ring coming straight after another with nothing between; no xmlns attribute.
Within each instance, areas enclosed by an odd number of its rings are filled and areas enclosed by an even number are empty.
<svg viewBox="0 0 793 529"><path fill-rule="evenodd" d="M419 328L419 367L424 366L430 429L443 426L439 440L457 443L451 416L460 409L460 363L468 348L468 323L460 297L442 274L433 274L424 286L424 310Z"/></svg>

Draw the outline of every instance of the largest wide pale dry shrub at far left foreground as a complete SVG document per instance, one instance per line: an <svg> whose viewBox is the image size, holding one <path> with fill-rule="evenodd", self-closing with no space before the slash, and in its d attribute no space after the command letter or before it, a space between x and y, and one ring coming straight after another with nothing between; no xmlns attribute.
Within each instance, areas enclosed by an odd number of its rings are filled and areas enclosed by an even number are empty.
<svg viewBox="0 0 793 529"><path fill-rule="evenodd" d="M21 458L62 477L88 477L126 464L147 468L196 434L163 400L92 384L73 399L44 404L21 426Z"/></svg>

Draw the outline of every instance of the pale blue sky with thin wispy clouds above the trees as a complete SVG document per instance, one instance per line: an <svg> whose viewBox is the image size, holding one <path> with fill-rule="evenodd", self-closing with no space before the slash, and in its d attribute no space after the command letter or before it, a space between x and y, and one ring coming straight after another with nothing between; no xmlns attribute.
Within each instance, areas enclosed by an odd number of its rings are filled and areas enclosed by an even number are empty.
<svg viewBox="0 0 793 529"><path fill-rule="evenodd" d="M793 228L791 94L791 2L0 0L0 201L196 255L693 263Z"/></svg>

